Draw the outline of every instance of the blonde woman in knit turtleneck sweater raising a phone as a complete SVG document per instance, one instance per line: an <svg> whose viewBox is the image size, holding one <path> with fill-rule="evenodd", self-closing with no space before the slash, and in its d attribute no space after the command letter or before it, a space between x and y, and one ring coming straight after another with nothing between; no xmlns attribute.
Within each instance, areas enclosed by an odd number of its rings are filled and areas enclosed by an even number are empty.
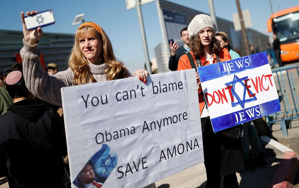
<svg viewBox="0 0 299 188"><path fill-rule="evenodd" d="M37 12L28 11L26 16ZM123 63L115 58L111 42L103 28L94 22L85 22L77 29L68 59L69 68L49 76L39 62L38 40L42 36L42 30L40 27L27 30L23 12L21 19L24 47L20 54L23 59L24 78L28 90L39 99L62 106L62 87L132 77ZM146 70L138 69L134 73L142 82L147 82Z"/></svg>

